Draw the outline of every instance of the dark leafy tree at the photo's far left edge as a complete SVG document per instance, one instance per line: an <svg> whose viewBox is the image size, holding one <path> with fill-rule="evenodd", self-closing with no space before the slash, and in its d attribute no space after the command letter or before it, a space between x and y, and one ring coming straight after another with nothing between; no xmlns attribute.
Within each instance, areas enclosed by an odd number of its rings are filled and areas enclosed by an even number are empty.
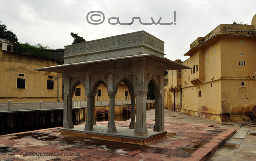
<svg viewBox="0 0 256 161"><path fill-rule="evenodd" d="M1 24L1 22L0 22L0 38L13 42L13 51L14 52L18 51L17 48L18 48L19 42L16 34L14 34L12 30L7 30L6 25Z"/></svg>

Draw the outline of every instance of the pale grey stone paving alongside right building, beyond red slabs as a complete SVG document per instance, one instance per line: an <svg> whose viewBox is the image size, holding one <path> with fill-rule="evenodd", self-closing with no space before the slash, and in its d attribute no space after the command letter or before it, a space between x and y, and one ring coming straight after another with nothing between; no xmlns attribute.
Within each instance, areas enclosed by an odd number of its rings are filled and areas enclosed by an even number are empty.
<svg viewBox="0 0 256 161"><path fill-rule="evenodd" d="M147 119L154 120L154 110L147 111ZM236 133L219 147L206 161L256 161L256 124L220 123L201 117L165 109L165 120L180 123L213 124L214 127L234 128Z"/></svg>

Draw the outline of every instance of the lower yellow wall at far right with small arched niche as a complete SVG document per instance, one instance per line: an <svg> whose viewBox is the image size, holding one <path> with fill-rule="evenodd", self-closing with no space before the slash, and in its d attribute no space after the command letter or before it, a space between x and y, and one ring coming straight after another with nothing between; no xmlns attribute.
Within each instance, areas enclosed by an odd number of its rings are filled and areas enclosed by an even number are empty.
<svg viewBox="0 0 256 161"><path fill-rule="evenodd" d="M244 81L244 86L241 85ZM246 97L241 97L240 88L246 89ZM224 121L244 122L252 121L252 107L256 105L255 80L222 80L222 113L230 117L224 117ZM249 114L249 115L248 115Z"/></svg>

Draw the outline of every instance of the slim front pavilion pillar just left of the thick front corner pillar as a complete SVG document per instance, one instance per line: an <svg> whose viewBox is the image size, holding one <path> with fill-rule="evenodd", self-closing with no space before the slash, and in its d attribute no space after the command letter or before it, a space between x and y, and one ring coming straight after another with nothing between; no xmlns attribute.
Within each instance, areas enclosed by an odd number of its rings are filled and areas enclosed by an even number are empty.
<svg viewBox="0 0 256 161"><path fill-rule="evenodd" d="M116 133L115 125L115 96L109 97L109 122L108 122L108 133Z"/></svg>

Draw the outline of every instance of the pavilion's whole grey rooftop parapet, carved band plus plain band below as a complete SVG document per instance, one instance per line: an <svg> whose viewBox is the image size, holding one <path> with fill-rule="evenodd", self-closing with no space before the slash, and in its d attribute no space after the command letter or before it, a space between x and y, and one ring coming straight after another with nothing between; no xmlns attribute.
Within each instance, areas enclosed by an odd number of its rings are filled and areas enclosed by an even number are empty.
<svg viewBox="0 0 256 161"><path fill-rule="evenodd" d="M145 31L132 32L65 46L63 58L69 64L139 54L164 58L164 42Z"/></svg>

